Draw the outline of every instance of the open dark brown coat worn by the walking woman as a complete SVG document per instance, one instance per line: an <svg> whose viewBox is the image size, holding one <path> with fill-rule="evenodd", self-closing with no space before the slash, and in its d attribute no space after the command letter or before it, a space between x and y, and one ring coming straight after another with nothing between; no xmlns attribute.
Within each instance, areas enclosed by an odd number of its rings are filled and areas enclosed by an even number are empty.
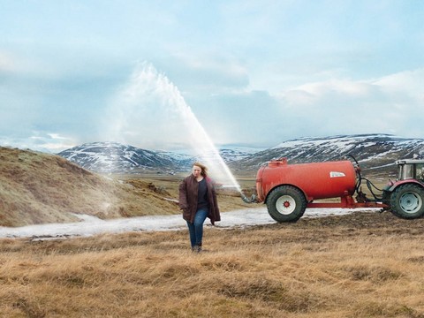
<svg viewBox="0 0 424 318"><path fill-rule="evenodd" d="M206 178L208 187L209 212L208 218L210 223L215 224L216 221L221 221L219 214L218 203L216 201L216 191L209 178ZM183 210L183 218L193 223L194 216L197 212L197 193L199 190L199 182L192 175L188 176L179 185L179 208Z"/></svg>

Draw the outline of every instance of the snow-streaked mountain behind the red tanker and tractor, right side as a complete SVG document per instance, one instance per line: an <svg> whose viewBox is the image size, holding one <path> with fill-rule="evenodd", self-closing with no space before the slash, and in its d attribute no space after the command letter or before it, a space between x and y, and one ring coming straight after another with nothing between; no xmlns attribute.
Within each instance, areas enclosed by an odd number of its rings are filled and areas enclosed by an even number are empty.
<svg viewBox="0 0 424 318"><path fill-rule="evenodd" d="M287 157L289 163L314 163L346 159L345 155L355 157L362 170L396 170L396 160L424 156L424 139L387 134L299 138L239 160L231 168L257 170L261 164L281 157Z"/></svg>

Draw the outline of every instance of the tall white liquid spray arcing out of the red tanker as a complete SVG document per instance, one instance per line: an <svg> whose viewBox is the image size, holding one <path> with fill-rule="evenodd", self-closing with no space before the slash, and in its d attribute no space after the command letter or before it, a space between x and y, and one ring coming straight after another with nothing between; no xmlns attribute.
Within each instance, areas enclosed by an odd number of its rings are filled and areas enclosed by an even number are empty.
<svg viewBox="0 0 424 318"><path fill-rule="evenodd" d="M157 149L190 147L211 178L241 193L240 186L178 87L152 64L139 64L110 109L110 138Z"/></svg>

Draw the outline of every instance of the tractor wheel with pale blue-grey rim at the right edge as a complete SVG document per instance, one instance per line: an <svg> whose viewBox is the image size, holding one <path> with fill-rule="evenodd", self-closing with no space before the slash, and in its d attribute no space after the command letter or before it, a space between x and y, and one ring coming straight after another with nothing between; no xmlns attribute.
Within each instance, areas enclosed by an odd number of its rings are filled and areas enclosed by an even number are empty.
<svg viewBox="0 0 424 318"><path fill-rule="evenodd" d="M390 197L391 212L405 219L424 216L424 189L407 184L399 186Z"/></svg>

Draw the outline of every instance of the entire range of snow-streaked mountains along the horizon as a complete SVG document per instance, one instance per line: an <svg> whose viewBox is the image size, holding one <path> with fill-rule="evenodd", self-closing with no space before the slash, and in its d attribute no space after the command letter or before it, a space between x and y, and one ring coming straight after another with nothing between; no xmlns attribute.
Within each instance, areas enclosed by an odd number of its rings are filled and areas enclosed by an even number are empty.
<svg viewBox="0 0 424 318"><path fill-rule="evenodd" d="M387 134L331 136L287 140L273 148L244 148L226 146L219 149L223 161L233 171L254 171L261 164L280 157L289 163L314 163L346 159L352 155L362 170L396 171L398 159L424 156L424 139L406 139ZM58 155L96 172L136 172L161 170L164 173L190 170L194 161L210 162L216 155L211 151L203 157L187 151L165 152L135 148L116 142L94 142L67 149Z"/></svg>

